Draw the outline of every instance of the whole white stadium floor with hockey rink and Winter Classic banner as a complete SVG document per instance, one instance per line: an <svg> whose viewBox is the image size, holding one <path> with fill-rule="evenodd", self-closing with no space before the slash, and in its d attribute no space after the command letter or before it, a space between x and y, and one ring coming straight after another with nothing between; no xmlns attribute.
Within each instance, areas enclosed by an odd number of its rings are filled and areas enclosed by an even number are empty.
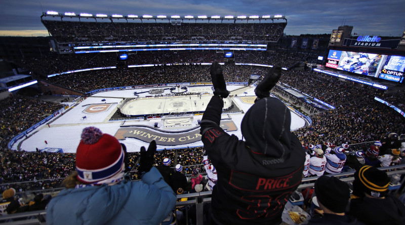
<svg viewBox="0 0 405 225"><path fill-rule="evenodd" d="M173 96L168 87L163 88L164 90L160 94L150 94L148 91L152 89L156 90L158 87L99 92L83 101L70 102L68 104L69 109L63 115L57 115L47 124L39 126L27 137L18 140L12 149L33 152L36 148L61 148L64 153L75 153L82 130L90 126L97 127L103 133L117 138L121 137L118 138L119 142L126 145L128 152L139 152L141 146L147 147L149 142L145 141L145 138L148 135L153 137L153 134L155 136L160 134L184 136L179 136L179 140L184 140L184 144L182 144L183 142L172 144L173 142L170 142L171 137L169 139L165 139L162 135L159 138L155 137L158 150L202 146L198 120L203 117L202 113L213 95L212 86L187 87L185 93L199 94L181 96ZM232 97L224 99L224 108L229 107L233 102L237 106L235 108L246 112L253 105L253 100L256 98L254 87L235 85L227 86L227 89L231 92ZM184 90L179 89L178 91ZM183 115L180 117L170 115L147 120L138 118L111 120L117 108L124 104L127 105L131 115L161 113L181 113ZM200 113L195 113L195 111L200 111ZM240 123L244 115L244 113L234 113L231 109L228 113L222 114L221 127L223 126L222 122L224 122L224 126L228 128L227 133L236 135L239 139L242 138ZM293 111L291 111L291 117L291 130L305 126L305 120ZM135 137L133 136L135 133L143 136ZM161 142L161 140L166 140L166 142Z"/></svg>

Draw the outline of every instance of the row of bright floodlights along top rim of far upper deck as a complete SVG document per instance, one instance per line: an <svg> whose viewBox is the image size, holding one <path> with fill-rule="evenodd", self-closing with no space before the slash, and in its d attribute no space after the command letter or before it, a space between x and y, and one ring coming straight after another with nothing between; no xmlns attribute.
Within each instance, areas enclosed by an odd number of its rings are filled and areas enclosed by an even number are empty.
<svg viewBox="0 0 405 225"><path fill-rule="evenodd" d="M223 20L233 20L234 22L236 21L240 21L240 20L245 20L245 21L249 21L249 20L271 20L274 22L274 20L284 20L287 23L287 19L285 16L282 15L274 15L274 16L270 16L270 15L263 15L263 16L258 16L258 15L252 15L252 16L206 16L206 15L200 15L200 16L192 16L192 15L186 15L186 16L179 16L179 15L172 15L172 16L166 16L166 15L156 15L156 16L152 16L152 15L119 15L119 14L113 14L113 15L106 15L106 14L89 14L89 13L80 13L80 14L76 14L73 12L66 12L66 13L58 13L55 11L47 11L46 13L43 12L41 19L43 19L43 17L60 17L61 20L63 20L63 17L67 17L67 18L78 18L80 20L80 18L93 18L97 21L97 19L109 19L112 20L113 19L124 19L128 22L128 20L140 20L141 22L143 20L155 20L157 22L157 20L168 20L170 22L170 20L208 20L208 22L210 22L210 20L220 20L221 22Z"/></svg>

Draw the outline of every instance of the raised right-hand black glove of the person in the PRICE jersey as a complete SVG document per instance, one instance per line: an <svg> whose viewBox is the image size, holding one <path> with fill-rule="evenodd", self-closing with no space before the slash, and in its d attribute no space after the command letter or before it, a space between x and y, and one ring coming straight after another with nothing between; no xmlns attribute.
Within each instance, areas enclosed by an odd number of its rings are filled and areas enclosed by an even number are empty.
<svg viewBox="0 0 405 225"><path fill-rule="evenodd" d="M265 98L270 96L270 90L277 84L278 79L281 77L281 65L277 63L271 68L270 72L264 76L263 81L256 87L255 93L258 98Z"/></svg>

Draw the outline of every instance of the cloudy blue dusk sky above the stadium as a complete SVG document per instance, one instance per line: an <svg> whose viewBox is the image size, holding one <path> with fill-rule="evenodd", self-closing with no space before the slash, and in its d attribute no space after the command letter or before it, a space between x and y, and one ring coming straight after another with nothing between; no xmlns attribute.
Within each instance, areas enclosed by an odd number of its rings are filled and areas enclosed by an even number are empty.
<svg viewBox="0 0 405 225"><path fill-rule="evenodd" d="M6 30L44 30L40 16L47 10L59 13L105 13L136 15L286 15L287 34L330 33L342 24L352 25L356 33L396 35L403 32L403 0L3 0L0 35ZM42 31L38 31L42 32Z"/></svg>

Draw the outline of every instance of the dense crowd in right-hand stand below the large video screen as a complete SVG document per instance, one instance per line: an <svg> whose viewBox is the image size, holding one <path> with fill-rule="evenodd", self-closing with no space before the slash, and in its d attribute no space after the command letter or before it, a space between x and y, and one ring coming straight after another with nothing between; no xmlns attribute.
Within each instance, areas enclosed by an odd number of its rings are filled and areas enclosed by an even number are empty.
<svg viewBox="0 0 405 225"><path fill-rule="evenodd" d="M390 132L405 133L403 117L374 100L385 98L382 90L312 71L286 71L280 81L336 107L313 115L312 126L295 131L304 143L353 144L380 140Z"/></svg>

